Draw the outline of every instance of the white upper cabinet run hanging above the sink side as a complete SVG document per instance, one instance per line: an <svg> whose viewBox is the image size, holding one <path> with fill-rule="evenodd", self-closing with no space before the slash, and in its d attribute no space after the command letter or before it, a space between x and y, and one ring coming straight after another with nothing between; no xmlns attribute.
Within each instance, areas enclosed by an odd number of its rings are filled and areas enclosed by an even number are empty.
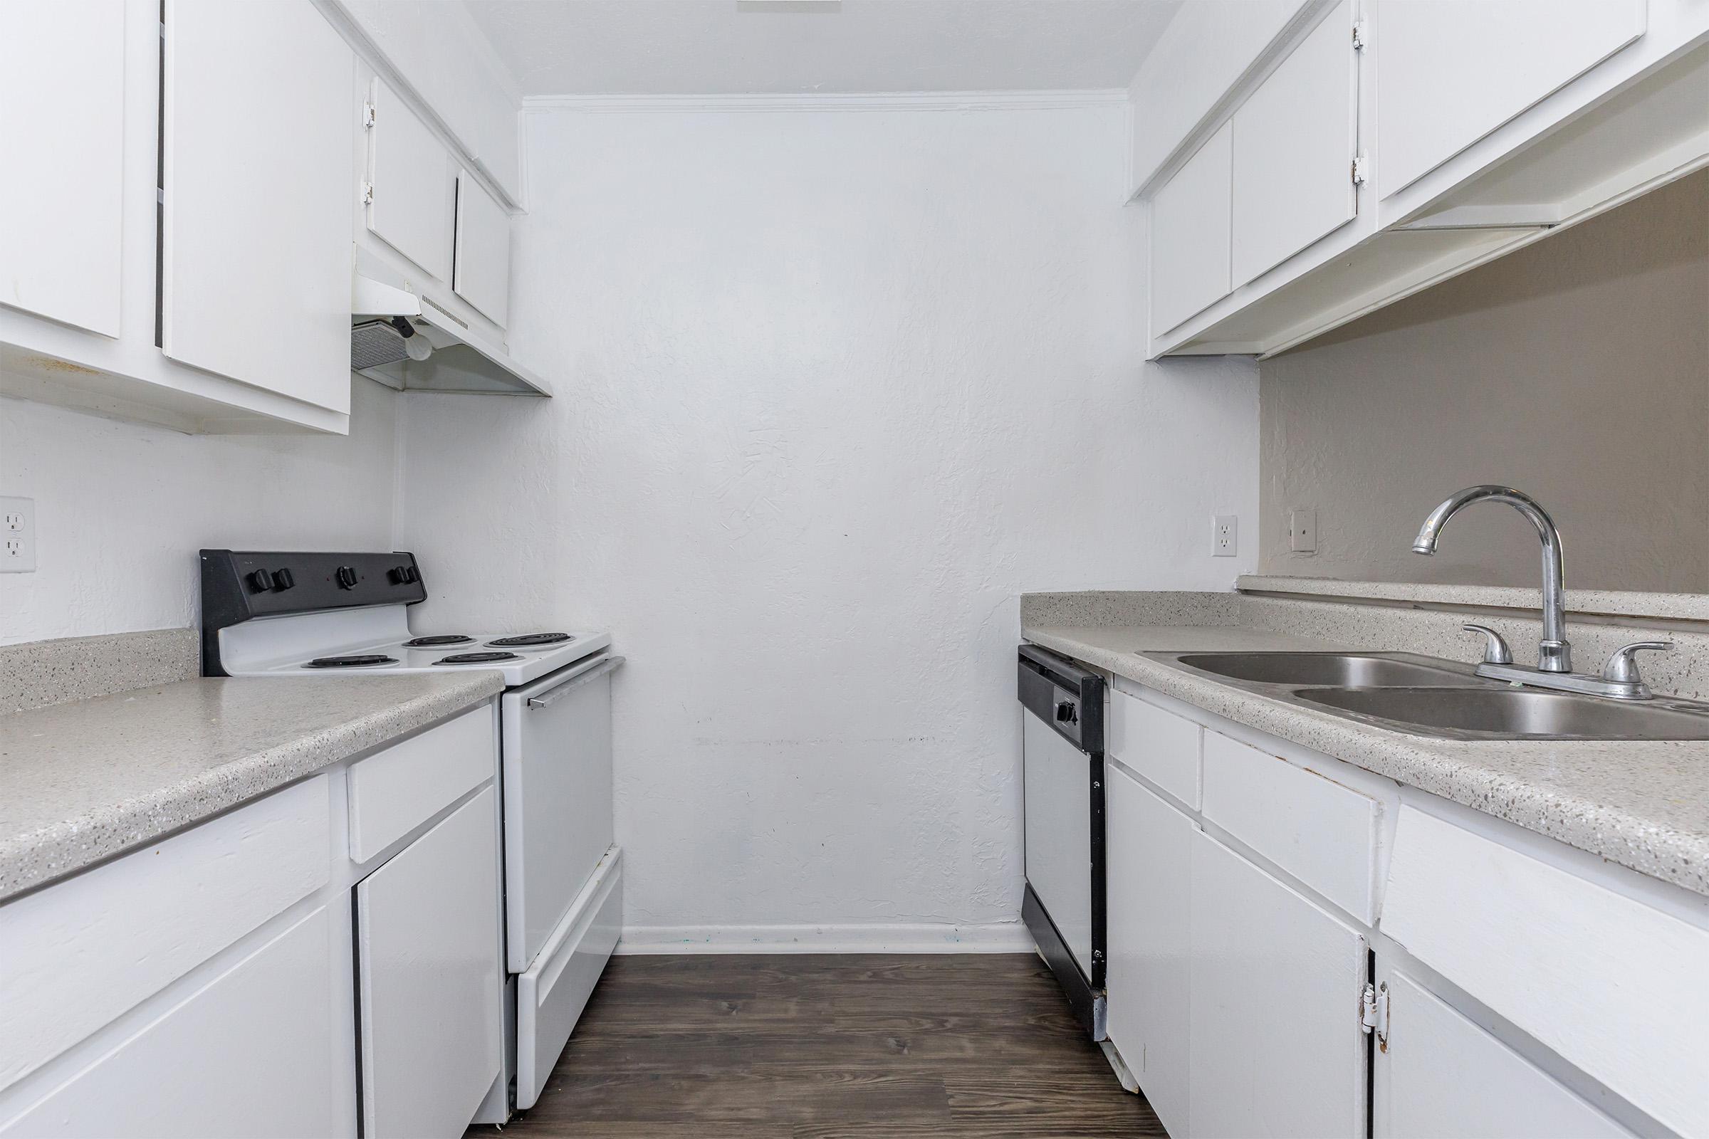
<svg viewBox="0 0 1709 1139"><path fill-rule="evenodd" d="M1186 5L1130 85L1150 359L1287 350L1709 161L1706 0L1251 19L1229 34L1219 3Z"/></svg>

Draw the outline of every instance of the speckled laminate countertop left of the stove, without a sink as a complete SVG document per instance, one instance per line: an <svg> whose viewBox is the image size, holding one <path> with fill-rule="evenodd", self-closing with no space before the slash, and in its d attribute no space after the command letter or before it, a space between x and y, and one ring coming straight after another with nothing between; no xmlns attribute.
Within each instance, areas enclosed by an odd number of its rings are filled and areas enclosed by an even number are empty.
<svg viewBox="0 0 1709 1139"><path fill-rule="evenodd" d="M504 688L499 673L181 680L0 716L0 900Z"/></svg>

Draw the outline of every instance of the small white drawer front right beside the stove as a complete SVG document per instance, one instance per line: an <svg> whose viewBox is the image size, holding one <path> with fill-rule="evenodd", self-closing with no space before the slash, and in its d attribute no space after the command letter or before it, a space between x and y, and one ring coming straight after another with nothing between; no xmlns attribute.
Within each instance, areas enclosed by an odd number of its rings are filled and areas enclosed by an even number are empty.
<svg viewBox="0 0 1709 1139"><path fill-rule="evenodd" d="M492 779L492 705L350 765L350 857L366 862Z"/></svg>

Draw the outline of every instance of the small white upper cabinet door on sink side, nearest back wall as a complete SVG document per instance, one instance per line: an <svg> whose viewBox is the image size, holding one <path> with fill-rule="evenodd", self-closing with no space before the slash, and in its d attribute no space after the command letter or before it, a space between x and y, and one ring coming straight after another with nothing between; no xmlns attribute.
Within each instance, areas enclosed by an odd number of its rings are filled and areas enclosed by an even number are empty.
<svg viewBox="0 0 1709 1139"><path fill-rule="evenodd" d="M1229 295L1229 126L1152 196L1152 335Z"/></svg>

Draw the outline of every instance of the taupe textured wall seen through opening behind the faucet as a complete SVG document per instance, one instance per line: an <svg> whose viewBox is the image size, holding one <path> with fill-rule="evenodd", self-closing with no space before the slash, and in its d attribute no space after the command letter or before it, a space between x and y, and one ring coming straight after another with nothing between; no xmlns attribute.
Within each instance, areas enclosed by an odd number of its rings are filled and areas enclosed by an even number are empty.
<svg viewBox="0 0 1709 1139"><path fill-rule="evenodd" d="M1512 511L1456 517L1504 482L1548 507L1567 582L1709 591L1709 172L1630 202L1266 360L1263 569L1535 586ZM1318 555L1287 512L1318 511Z"/></svg>

